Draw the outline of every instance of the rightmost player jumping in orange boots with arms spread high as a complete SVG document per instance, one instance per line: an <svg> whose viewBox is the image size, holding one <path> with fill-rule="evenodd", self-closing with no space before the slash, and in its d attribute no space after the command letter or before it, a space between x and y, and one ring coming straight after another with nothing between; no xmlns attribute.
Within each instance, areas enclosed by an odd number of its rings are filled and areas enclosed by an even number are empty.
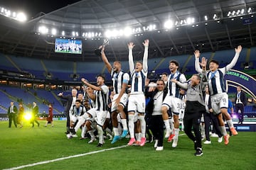
<svg viewBox="0 0 256 170"><path fill-rule="evenodd" d="M223 133L225 145L228 145L230 135L227 134L225 130L225 123L223 121L223 115L227 120L227 123L230 127L230 130L233 135L238 135L238 132L235 130L232 119L228 114L228 94L225 91L225 81L224 75L230 69L235 66L235 63L238 61L238 57L242 50L242 46L239 45L238 48L235 48L235 57L226 67L218 68L219 63L216 60L211 60L209 64L210 71L206 72L206 77L208 79L208 87L210 91L210 101L213 108L213 113L218 116L218 122L220 125L220 131ZM201 63L199 62L200 52L196 50L194 52L196 57L195 67L198 73L202 73L202 69L206 70L207 60L205 57L202 57ZM201 69L201 67L202 69Z"/></svg>

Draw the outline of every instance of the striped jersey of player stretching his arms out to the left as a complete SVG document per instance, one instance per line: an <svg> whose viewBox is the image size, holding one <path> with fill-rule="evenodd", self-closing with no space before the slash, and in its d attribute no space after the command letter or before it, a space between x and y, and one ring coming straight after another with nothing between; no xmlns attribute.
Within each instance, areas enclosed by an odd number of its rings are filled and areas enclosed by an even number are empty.
<svg viewBox="0 0 256 170"><path fill-rule="evenodd" d="M100 86L101 91L96 91L96 99L95 99L95 109L97 111L108 111L108 98L109 98L109 88L103 84Z"/></svg>

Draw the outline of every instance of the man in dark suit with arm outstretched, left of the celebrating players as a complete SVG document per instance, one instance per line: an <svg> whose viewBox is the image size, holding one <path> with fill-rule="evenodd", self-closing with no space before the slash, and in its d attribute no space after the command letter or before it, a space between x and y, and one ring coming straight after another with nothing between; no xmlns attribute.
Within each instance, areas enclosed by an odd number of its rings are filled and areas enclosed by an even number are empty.
<svg viewBox="0 0 256 170"><path fill-rule="evenodd" d="M70 114L69 113L70 113L71 106L75 105L77 94L78 94L78 90L75 88L72 89L71 95L69 94L67 96L63 96L63 93L58 94L60 98L67 100L65 104L65 110L64 110L64 114L67 116L67 123L66 123L67 131L65 132L65 134L70 134Z"/></svg>

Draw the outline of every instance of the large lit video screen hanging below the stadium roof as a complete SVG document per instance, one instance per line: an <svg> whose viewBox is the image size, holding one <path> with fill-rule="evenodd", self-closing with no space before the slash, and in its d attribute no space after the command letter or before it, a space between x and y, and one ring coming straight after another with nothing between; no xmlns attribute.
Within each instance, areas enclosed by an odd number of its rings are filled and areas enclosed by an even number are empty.
<svg viewBox="0 0 256 170"><path fill-rule="evenodd" d="M82 54L82 40L56 38L55 52Z"/></svg>

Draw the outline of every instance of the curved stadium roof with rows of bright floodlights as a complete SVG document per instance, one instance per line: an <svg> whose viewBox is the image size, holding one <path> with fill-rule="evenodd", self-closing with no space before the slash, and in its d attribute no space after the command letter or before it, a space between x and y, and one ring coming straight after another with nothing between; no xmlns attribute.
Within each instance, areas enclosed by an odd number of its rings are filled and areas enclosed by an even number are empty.
<svg viewBox="0 0 256 170"><path fill-rule="evenodd" d="M39 13L23 23L2 13L0 52L101 61L94 50L104 39L110 40L106 47L110 60L127 60L130 41L136 44L134 56L142 58L145 39L150 40L150 58L193 54L196 49L208 52L236 45L250 47L256 41L255 7L253 0L83 0ZM42 26L48 33L41 33ZM131 35L124 36L125 31ZM55 53L55 38L60 37L82 40L82 55Z"/></svg>

